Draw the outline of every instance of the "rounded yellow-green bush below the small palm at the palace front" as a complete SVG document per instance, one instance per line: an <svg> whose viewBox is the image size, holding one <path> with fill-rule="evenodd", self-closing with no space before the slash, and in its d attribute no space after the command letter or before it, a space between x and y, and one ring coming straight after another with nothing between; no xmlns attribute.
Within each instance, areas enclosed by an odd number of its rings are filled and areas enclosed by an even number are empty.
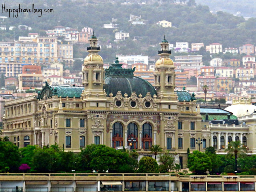
<svg viewBox="0 0 256 192"><path fill-rule="evenodd" d="M139 162L139 173L159 173L158 164L152 157L142 157Z"/></svg>

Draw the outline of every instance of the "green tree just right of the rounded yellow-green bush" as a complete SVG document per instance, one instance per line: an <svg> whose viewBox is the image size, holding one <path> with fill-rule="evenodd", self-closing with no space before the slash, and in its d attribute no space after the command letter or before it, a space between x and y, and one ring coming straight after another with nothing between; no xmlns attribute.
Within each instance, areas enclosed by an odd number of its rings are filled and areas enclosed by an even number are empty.
<svg viewBox="0 0 256 192"><path fill-rule="evenodd" d="M175 156L169 153L163 153L159 156L159 171L167 173L175 169Z"/></svg>

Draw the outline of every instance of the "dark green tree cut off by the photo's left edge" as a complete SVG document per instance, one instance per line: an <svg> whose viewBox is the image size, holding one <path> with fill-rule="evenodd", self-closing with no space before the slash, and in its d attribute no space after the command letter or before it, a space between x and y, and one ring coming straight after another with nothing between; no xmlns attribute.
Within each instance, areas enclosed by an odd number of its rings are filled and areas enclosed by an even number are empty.
<svg viewBox="0 0 256 192"><path fill-rule="evenodd" d="M20 154L18 147L10 141L0 141L0 171L5 172L5 168L8 167L8 171L18 171L20 165Z"/></svg>

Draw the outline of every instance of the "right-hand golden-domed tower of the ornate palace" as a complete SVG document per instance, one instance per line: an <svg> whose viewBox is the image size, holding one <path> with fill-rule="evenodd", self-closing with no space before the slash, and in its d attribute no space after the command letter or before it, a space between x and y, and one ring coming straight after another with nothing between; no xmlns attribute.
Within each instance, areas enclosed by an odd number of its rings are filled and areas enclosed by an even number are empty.
<svg viewBox="0 0 256 192"><path fill-rule="evenodd" d="M154 87L156 88L157 96L159 98L176 99L174 93L175 88L175 72L173 61L169 58L171 51L169 50L169 43L165 39L160 43L161 50L158 51L160 58L156 61L154 72Z"/></svg>

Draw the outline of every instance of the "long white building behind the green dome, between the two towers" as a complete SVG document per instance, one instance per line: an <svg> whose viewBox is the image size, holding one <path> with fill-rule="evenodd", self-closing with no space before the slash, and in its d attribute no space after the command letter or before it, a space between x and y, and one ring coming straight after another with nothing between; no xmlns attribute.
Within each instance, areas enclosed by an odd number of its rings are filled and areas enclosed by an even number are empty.
<svg viewBox="0 0 256 192"><path fill-rule="evenodd" d="M118 60L120 63L127 63L128 65L132 65L134 63L144 63L148 65L148 56L118 55Z"/></svg>

